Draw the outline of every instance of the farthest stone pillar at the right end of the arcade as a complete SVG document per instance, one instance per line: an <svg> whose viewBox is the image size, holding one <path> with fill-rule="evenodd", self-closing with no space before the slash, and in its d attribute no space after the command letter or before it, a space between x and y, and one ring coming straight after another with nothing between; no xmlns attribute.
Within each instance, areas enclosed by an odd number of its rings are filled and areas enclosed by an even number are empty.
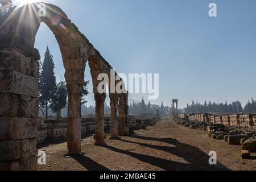
<svg viewBox="0 0 256 182"><path fill-rule="evenodd" d="M120 136L129 135L129 112L128 112L128 94L119 94L118 105L118 134Z"/></svg>

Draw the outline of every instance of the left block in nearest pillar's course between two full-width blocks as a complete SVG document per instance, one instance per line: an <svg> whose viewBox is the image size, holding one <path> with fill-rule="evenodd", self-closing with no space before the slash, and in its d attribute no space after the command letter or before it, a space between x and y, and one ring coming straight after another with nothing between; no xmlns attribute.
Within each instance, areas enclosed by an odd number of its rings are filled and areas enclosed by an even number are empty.
<svg viewBox="0 0 256 182"><path fill-rule="evenodd" d="M18 115L19 99L17 94L0 93L0 103L0 117L15 117Z"/></svg>

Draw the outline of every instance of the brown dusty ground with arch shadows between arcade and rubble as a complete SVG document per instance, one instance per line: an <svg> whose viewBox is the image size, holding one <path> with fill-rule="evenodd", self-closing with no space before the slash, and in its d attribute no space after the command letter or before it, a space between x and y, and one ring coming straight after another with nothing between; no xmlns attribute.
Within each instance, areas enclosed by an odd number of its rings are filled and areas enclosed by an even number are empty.
<svg viewBox="0 0 256 182"><path fill-rule="evenodd" d="M207 132L191 130L163 119L147 130L122 140L106 139L108 146L94 146L93 137L82 140L84 156L65 158L67 143L39 148L47 165L39 170L256 170L253 159L241 158L241 146L213 140ZM209 151L217 152L217 166L210 166Z"/></svg>

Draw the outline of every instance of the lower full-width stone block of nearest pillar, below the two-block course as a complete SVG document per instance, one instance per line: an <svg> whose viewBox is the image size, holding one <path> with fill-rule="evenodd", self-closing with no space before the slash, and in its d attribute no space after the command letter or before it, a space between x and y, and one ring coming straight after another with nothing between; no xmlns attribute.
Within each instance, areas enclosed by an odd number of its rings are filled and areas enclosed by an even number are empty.
<svg viewBox="0 0 256 182"><path fill-rule="evenodd" d="M36 118L0 118L0 140L35 138L38 135L36 126Z"/></svg>

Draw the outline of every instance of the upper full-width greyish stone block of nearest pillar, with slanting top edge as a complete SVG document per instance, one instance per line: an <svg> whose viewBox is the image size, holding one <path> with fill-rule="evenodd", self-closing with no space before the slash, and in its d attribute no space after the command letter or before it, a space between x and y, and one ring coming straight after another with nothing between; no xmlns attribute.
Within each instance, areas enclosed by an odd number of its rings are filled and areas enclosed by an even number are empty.
<svg viewBox="0 0 256 182"><path fill-rule="evenodd" d="M37 97L38 79L19 72L2 71L0 72L0 93Z"/></svg>

